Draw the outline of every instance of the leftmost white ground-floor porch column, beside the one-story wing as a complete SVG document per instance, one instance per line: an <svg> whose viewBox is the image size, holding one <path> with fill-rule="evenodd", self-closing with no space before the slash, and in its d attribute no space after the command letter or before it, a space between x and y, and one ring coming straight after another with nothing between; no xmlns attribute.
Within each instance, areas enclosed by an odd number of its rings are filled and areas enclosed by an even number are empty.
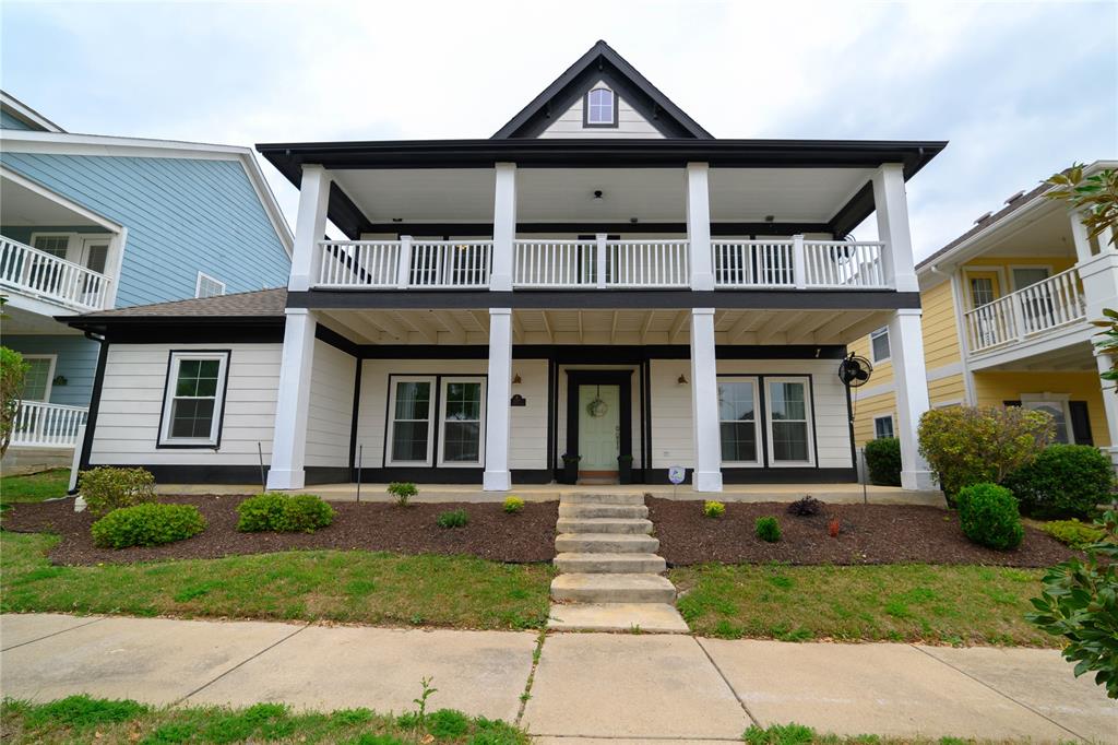
<svg viewBox="0 0 1118 745"><path fill-rule="evenodd" d="M302 489L306 455L306 417L311 407L311 366L316 322L305 308L288 308L280 365L280 397L272 435L268 489Z"/></svg>

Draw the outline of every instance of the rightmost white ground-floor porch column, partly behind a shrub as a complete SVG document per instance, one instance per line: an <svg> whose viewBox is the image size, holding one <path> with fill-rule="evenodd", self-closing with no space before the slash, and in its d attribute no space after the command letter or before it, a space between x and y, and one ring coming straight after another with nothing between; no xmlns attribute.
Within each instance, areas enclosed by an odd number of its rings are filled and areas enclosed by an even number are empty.
<svg viewBox="0 0 1118 745"><path fill-rule="evenodd" d="M935 489L931 470L918 451L916 435L920 416L931 407L919 308L902 308L893 313L889 321L889 347L897 392L897 436L901 441L901 487Z"/></svg>

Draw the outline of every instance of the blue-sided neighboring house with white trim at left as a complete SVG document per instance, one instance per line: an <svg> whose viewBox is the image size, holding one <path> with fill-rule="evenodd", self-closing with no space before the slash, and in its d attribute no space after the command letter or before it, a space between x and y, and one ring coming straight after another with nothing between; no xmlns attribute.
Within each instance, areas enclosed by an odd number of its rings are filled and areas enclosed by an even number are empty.
<svg viewBox="0 0 1118 745"><path fill-rule="evenodd" d="M6 465L68 462L84 422L100 345L59 320L283 286L291 252L248 148L73 134L0 92L0 340L31 366Z"/></svg>

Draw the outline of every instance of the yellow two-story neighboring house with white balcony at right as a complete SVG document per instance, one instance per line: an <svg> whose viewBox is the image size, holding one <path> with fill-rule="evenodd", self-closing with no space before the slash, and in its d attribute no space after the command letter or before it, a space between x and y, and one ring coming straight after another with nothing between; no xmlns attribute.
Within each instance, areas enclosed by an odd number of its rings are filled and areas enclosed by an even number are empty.
<svg viewBox="0 0 1118 745"><path fill-rule="evenodd" d="M1087 173L1118 168L1098 161ZM931 406L1020 405L1051 413L1060 442L1095 445L1118 462L1118 396L1099 378L1090 321L1118 308L1118 252L1088 241L1053 187L1018 192L917 266ZM873 362L852 392L861 445L897 430L887 328L851 345Z"/></svg>

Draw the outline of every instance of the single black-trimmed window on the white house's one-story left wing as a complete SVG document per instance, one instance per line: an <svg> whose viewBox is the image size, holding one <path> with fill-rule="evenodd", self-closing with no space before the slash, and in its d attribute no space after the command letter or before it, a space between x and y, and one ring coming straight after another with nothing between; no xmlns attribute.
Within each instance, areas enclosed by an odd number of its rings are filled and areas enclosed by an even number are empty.
<svg viewBox="0 0 1118 745"><path fill-rule="evenodd" d="M171 352L161 445L218 444L229 352Z"/></svg>

